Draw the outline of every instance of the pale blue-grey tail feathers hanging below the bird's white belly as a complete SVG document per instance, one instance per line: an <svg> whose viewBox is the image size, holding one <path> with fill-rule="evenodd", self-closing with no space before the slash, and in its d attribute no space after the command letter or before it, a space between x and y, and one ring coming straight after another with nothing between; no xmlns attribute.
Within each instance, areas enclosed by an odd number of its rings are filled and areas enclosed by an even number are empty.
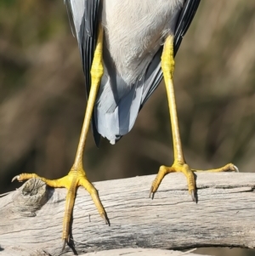
<svg viewBox="0 0 255 256"><path fill-rule="evenodd" d="M105 72L94 117L99 134L115 144L133 127L141 104L143 81L135 82L130 88L117 74L115 67L111 65L111 59L105 54L107 49L104 52Z"/></svg>

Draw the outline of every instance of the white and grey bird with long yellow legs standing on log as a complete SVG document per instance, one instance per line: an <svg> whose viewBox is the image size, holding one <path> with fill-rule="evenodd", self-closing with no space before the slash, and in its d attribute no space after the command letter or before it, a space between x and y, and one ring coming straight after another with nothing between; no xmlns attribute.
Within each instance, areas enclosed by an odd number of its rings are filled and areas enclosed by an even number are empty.
<svg viewBox="0 0 255 256"><path fill-rule="evenodd" d="M188 31L200 0L64 0L71 31L77 37L88 96L77 155L70 172L60 179L20 174L19 181L42 179L52 187L65 187L63 248L69 242L71 213L78 186L94 201L100 216L110 224L98 191L88 180L82 157L89 128L95 144L101 137L115 144L132 128L139 111L164 79L173 134L173 165L161 166L150 187L156 193L168 173L181 172L195 201L194 172L184 160L178 129L173 71L174 57ZM207 171L236 171L234 164ZM13 179L13 180L14 180Z"/></svg>

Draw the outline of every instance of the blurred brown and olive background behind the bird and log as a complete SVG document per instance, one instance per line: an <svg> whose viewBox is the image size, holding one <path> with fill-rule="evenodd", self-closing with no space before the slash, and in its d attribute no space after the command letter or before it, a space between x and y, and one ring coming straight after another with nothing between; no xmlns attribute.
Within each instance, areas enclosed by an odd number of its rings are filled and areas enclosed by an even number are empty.
<svg viewBox="0 0 255 256"><path fill-rule="evenodd" d="M176 56L174 82L191 168L234 162L241 172L253 172L254 0L201 1ZM20 173L49 179L67 174L77 151L86 94L63 1L0 1L0 92L0 194L19 186L10 180ZM156 174L161 164L172 162L163 84L129 134L114 146L101 139L98 149L90 133L84 156L91 181ZM254 250L200 250L255 255Z"/></svg>

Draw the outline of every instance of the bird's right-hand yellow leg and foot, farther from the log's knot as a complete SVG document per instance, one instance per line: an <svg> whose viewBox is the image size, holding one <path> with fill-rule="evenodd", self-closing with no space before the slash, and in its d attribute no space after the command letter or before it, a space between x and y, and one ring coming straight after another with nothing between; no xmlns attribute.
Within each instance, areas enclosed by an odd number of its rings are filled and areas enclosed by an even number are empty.
<svg viewBox="0 0 255 256"><path fill-rule="evenodd" d="M161 69L167 88L167 100L170 112L170 120L173 134L173 153L174 161L172 167L161 166L159 173L156 175L156 179L153 181L150 188L150 196L154 194L161 184L161 180L168 173L181 172L183 173L188 182L188 189L192 200L195 202L195 177L193 172L201 171L191 169L190 166L184 160L184 154L181 145L181 139L178 131L178 117L175 104L174 88L173 88L173 71L174 71L174 59L173 59L173 36L168 36L164 44L163 52L161 55ZM207 170L207 172L225 172L225 171L238 171L234 164L226 164L222 168Z"/></svg>

